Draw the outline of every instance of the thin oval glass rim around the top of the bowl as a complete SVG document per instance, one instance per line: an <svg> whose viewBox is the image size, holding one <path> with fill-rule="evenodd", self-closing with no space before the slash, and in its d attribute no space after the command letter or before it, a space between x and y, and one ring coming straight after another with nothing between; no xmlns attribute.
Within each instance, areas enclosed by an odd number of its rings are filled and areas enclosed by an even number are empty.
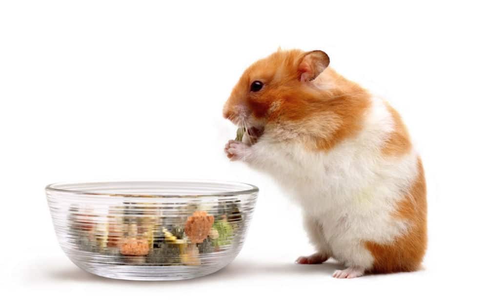
<svg viewBox="0 0 488 308"><path fill-rule="evenodd" d="M184 194L141 194L141 193L95 193L88 190L82 189L70 189L70 188L57 188L56 186L67 186L67 185L107 185L115 183L194 183L194 184L224 184L224 185L236 185L236 186L247 186L249 189L235 190L228 192L215 192L215 193L184 193ZM88 181L88 182L56 182L48 184L45 187L47 192L57 192L57 193L73 193L73 194L83 194L83 195L99 195L99 196L110 196L110 197L134 197L134 198L186 198L186 197L225 197L225 196L235 196L241 194L252 194L258 193L259 188L255 185L237 182L237 181L226 181L226 180L202 180L202 179L164 179L164 180L115 180L115 181Z"/></svg>

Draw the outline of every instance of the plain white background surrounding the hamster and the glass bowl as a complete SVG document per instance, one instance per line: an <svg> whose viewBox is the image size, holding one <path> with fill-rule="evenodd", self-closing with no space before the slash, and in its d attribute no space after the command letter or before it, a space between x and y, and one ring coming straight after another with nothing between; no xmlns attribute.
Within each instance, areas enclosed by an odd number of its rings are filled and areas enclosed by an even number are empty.
<svg viewBox="0 0 488 308"><path fill-rule="evenodd" d="M486 305L486 9L395 2L1 1L2 301ZM298 207L223 153L235 135L221 116L225 99L249 64L279 46L326 51L339 73L404 116L427 173L425 270L337 280L336 264L293 264L313 252ZM231 265L195 280L130 282L87 274L63 254L46 184L164 178L261 188Z"/></svg>

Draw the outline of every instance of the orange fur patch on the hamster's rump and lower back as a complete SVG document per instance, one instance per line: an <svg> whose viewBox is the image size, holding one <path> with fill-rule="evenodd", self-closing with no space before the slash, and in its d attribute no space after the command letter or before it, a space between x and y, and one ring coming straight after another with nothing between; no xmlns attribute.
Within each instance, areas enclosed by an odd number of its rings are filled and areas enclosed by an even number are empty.
<svg viewBox="0 0 488 308"><path fill-rule="evenodd" d="M371 272L398 272L417 270L427 249L427 191L422 161L418 160L419 174L407 196L398 203L395 217L410 224L407 233L384 245L366 242L366 248L375 258Z"/></svg>

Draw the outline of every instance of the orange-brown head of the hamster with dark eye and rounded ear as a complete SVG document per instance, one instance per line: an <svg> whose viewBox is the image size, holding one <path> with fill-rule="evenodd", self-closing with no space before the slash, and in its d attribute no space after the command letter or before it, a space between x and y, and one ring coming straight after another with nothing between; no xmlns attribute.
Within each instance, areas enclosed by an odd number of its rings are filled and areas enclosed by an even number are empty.
<svg viewBox="0 0 488 308"><path fill-rule="evenodd" d="M278 50L258 60L244 71L232 90L224 105L224 117L259 138L270 123L283 119L286 105L311 95L310 81L328 64L329 57L319 50Z"/></svg>

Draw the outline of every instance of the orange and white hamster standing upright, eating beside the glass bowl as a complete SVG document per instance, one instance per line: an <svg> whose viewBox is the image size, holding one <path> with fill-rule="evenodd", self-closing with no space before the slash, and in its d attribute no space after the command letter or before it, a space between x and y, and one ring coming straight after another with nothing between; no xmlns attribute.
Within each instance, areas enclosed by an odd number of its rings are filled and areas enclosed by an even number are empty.
<svg viewBox="0 0 488 308"><path fill-rule="evenodd" d="M427 249L424 169L399 114L328 67L323 51L271 54L244 71L224 117L246 128L230 160L269 173L298 201L336 278L417 270Z"/></svg>

